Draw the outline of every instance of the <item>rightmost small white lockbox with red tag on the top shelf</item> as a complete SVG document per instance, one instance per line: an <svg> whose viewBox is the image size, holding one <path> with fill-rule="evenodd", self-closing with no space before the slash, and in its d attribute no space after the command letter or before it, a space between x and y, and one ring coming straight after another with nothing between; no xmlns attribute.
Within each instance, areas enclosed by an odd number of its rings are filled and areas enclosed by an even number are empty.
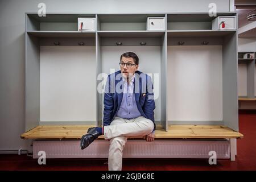
<svg viewBox="0 0 256 182"><path fill-rule="evenodd" d="M218 16L212 20L212 30L236 30L236 16Z"/></svg>

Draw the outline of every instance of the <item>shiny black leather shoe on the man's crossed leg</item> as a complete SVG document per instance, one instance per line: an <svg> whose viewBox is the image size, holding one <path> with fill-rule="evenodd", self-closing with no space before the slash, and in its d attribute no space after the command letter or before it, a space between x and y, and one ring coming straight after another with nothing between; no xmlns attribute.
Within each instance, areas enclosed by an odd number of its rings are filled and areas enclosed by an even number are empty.
<svg viewBox="0 0 256 182"><path fill-rule="evenodd" d="M88 134L82 135L80 141L81 150L84 150L84 148L88 147L89 144L91 144L95 139L100 136L100 133L98 133L96 127L89 128L87 132Z"/></svg>

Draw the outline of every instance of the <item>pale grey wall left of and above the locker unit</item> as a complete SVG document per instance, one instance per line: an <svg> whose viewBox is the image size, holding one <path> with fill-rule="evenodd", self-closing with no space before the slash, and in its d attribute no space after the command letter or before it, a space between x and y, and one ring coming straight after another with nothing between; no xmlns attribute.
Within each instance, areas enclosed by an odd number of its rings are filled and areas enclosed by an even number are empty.
<svg viewBox="0 0 256 182"><path fill-rule="evenodd" d="M24 31L25 12L38 12L46 3L47 13L172 13L229 11L229 0L9 0L0 1L0 150L27 149L20 139L24 132ZM76 2L76 3L75 3ZM129 2L129 4L127 3ZM129 7L130 6L130 7Z"/></svg>

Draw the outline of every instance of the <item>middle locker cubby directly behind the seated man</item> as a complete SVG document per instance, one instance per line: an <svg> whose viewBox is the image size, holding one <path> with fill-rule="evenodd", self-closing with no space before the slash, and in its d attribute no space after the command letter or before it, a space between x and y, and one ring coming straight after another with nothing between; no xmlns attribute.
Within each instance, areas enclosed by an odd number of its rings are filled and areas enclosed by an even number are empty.
<svg viewBox="0 0 256 182"><path fill-rule="evenodd" d="M150 74L155 93L155 121L166 128L165 74L166 73L166 34L134 34L134 32L98 32L98 47L100 72L105 76L118 71L120 56L124 52L136 52L139 57L139 71ZM142 45L142 42L144 44ZM121 43L122 46L118 46ZM160 79L160 80L159 80ZM105 80L106 81L106 80ZM100 83L98 81L98 83ZM103 94L98 94L98 125L102 125L104 110ZM99 119L101 118L101 121Z"/></svg>

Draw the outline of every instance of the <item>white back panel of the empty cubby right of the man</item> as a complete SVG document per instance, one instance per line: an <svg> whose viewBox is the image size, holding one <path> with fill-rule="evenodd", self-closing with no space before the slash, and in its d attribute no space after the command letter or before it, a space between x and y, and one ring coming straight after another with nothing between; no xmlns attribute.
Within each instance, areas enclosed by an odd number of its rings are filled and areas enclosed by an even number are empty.
<svg viewBox="0 0 256 182"><path fill-rule="evenodd" d="M222 121L222 46L168 46L168 121Z"/></svg>

